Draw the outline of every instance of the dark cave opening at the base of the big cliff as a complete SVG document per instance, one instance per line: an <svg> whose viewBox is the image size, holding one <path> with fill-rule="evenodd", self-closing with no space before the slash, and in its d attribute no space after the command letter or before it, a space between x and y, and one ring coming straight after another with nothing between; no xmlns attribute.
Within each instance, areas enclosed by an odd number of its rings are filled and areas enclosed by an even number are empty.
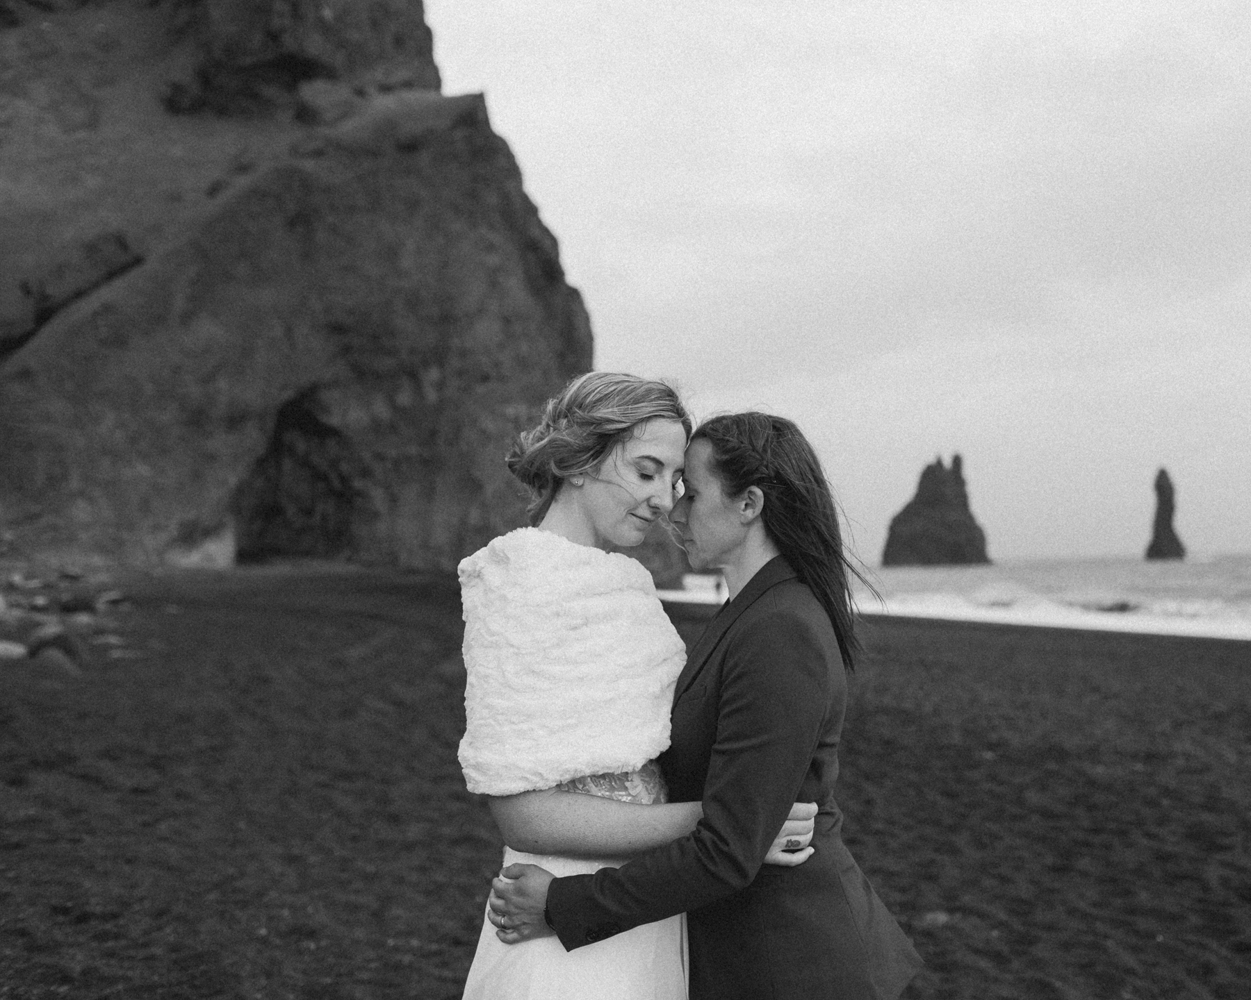
<svg viewBox="0 0 1251 1000"><path fill-rule="evenodd" d="M317 410L315 389L284 402L269 446L235 489L239 562L352 554L363 466Z"/></svg>

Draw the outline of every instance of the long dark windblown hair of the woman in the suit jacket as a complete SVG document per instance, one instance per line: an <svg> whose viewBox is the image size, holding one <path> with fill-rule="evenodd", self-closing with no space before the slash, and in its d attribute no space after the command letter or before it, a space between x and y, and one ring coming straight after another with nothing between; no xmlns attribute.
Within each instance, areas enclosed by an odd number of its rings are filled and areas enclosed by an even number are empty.
<svg viewBox="0 0 1251 1000"><path fill-rule="evenodd" d="M843 665L861 651L848 574L863 580L843 551L838 510L817 452L784 416L724 414L701 424L691 440L712 445L713 472L727 496L748 486L764 494L764 530L821 601L834 626Z"/></svg>

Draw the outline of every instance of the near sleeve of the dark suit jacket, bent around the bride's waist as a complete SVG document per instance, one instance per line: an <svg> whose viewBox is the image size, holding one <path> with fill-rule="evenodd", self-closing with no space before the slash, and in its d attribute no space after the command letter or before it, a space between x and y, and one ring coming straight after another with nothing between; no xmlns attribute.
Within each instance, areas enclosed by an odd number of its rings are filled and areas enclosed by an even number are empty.
<svg viewBox="0 0 1251 1000"><path fill-rule="evenodd" d="M703 819L619 869L555 879L548 919L565 949L737 892L763 864L821 736L831 666L811 619L773 608L739 625L727 636Z"/></svg>

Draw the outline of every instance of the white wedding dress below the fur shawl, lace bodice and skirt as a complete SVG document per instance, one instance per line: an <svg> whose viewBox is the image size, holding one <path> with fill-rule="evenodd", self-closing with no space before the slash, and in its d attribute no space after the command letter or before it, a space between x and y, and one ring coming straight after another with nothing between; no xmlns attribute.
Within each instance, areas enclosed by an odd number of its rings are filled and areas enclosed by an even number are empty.
<svg viewBox="0 0 1251 1000"><path fill-rule="evenodd" d="M629 774L574 779L560 788L644 805L664 801L664 782L654 764ZM617 868L622 860L504 848L504 865L514 864L538 865L560 876ZM505 945L484 915L464 1000L687 1000L686 920L686 914L678 914L565 951L554 936Z"/></svg>

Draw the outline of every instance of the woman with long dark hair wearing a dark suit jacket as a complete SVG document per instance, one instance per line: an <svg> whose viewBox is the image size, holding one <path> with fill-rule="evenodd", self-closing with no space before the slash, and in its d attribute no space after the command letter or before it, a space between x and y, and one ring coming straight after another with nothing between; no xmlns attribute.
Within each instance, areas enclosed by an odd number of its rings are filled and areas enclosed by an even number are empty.
<svg viewBox="0 0 1251 1000"><path fill-rule="evenodd" d="M694 1000L891 1000L921 960L839 835L857 646L829 486L794 424L754 412L701 426L684 479L672 520L731 600L688 656L659 760L671 801L702 801L703 819L619 869L505 869L492 922L504 940L554 932L572 950L686 911ZM814 852L763 866L794 801L819 806Z"/></svg>

